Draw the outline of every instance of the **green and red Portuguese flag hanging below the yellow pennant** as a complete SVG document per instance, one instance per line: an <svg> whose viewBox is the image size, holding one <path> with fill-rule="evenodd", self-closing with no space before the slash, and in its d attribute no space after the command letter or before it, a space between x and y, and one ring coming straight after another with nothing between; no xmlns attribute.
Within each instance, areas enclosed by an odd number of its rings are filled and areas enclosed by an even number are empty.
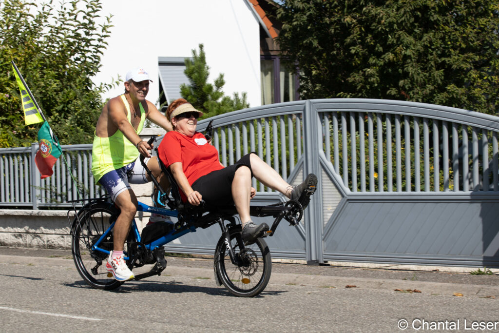
<svg viewBox="0 0 499 333"><path fill-rule="evenodd" d="M34 161L38 170L40 170L41 179L43 179L54 173L52 168L62 154L59 144L53 140L52 130L46 121L38 131L38 144L40 145L40 149L36 153Z"/></svg>

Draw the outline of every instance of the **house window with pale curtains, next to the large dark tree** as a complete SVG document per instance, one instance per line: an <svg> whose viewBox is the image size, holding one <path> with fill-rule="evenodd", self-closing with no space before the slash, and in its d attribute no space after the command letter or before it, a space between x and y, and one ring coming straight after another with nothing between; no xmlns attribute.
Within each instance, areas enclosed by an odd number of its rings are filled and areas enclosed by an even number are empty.
<svg viewBox="0 0 499 333"><path fill-rule="evenodd" d="M281 65L275 55L262 55L261 104L273 104L298 100L298 80L296 74Z"/></svg>

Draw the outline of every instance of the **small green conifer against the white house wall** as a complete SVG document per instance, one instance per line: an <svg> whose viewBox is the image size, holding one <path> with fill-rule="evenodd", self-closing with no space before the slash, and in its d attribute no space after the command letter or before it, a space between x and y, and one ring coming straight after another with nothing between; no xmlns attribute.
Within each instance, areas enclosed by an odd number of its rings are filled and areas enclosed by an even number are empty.
<svg viewBox="0 0 499 333"><path fill-rule="evenodd" d="M230 111L241 110L250 107L246 101L246 92L234 93L234 98L224 96L222 88L225 80L224 74L220 73L214 84L208 83L210 67L206 64L204 45L199 44L199 53L192 50L193 59L186 58L186 69L184 73L189 79L189 85L180 86L180 94L187 99L196 109L204 113L204 118L216 116Z"/></svg>

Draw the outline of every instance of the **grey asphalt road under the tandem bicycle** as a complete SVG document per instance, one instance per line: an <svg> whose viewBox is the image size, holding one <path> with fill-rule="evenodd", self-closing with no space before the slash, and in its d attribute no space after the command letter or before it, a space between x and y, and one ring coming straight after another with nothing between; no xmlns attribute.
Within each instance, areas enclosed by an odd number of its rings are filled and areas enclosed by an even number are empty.
<svg viewBox="0 0 499 333"><path fill-rule="evenodd" d="M265 291L245 299L215 284L211 261L168 258L165 275L109 292L64 252L31 251L0 248L1 332L401 332L400 320L408 332L499 331L496 275L273 264Z"/></svg>

